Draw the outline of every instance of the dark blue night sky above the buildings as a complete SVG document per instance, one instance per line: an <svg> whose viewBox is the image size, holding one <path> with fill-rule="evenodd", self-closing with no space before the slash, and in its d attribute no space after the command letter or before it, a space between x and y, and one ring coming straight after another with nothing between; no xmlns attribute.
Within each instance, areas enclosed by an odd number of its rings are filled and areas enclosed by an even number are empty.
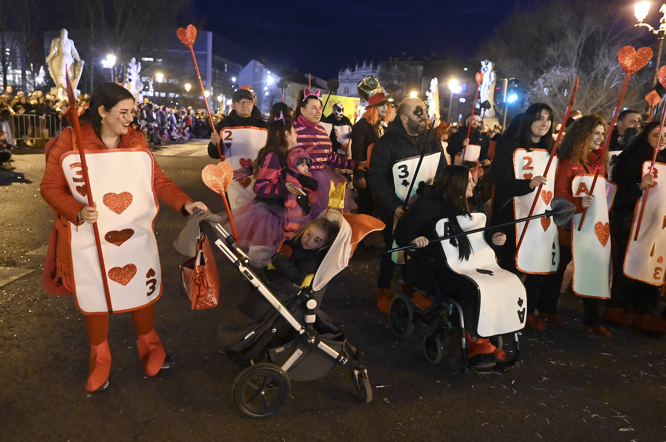
<svg viewBox="0 0 666 442"><path fill-rule="evenodd" d="M515 1L194 0L204 29L323 79L390 56L472 57ZM233 5L230 7L230 5ZM220 17L218 21L210 17Z"/></svg>

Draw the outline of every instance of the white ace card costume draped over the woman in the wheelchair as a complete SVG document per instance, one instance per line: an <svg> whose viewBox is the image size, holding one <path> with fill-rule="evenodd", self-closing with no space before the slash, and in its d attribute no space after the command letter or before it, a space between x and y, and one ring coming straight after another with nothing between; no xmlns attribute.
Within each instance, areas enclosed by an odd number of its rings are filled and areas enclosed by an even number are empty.
<svg viewBox="0 0 666 442"><path fill-rule="evenodd" d="M464 215L456 216L456 219L465 231L486 226L486 214L483 213L473 213L471 219ZM448 234L447 223L448 218L437 222L435 229L438 236ZM478 335L490 337L521 330L527 312L525 287L515 274L498 266L495 252L486 242L484 232L470 234L467 238L472 246L469 260L460 260L458 246L451 244L450 240L441 241L440 244L448 267L472 280L478 289Z"/></svg>

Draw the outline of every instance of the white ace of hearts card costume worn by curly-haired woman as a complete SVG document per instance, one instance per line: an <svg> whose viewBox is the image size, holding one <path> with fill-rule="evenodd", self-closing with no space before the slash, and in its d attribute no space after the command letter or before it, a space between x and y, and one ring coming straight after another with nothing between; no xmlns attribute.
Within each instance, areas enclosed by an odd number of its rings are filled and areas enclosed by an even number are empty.
<svg viewBox="0 0 666 442"><path fill-rule="evenodd" d="M589 194L594 174L573 177L573 196ZM599 176L592 205L587 208L583 228L578 231L582 213L571 218L573 292L584 298L611 298L611 226L608 212L613 206L617 186Z"/></svg>

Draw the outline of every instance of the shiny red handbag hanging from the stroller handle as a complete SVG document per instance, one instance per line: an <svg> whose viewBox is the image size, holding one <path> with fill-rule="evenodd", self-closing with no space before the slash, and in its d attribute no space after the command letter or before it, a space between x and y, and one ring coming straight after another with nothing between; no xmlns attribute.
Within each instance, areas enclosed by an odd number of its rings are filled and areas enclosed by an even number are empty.
<svg viewBox="0 0 666 442"><path fill-rule="evenodd" d="M217 306L220 299L220 278L206 234L200 234L196 242L196 256L182 263L180 273L182 285L192 302L192 310Z"/></svg>

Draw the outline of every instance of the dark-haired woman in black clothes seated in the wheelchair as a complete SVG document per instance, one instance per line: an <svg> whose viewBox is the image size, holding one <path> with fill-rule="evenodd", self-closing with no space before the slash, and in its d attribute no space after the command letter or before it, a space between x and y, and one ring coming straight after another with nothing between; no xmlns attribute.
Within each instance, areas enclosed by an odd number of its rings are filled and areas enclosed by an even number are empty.
<svg viewBox="0 0 666 442"><path fill-rule="evenodd" d="M447 266L442 265L445 258L441 246L438 242L429 245L428 237L436 237L435 225L442 218L448 218L450 221L450 234L463 232L456 216L464 215L472 218L472 212L480 212L471 200L474 185L469 168L455 164L446 166L436 182L432 186L426 187L422 198L416 200L410 210L400 218L396 230L394 230L394 239L398 246L414 244L417 248L422 248L420 258L428 268L433 270L432 273L438 280L440 290L445 291L448 296L459 300L462 304L469 304L471 300L471 297L466 297L470 281L454 274L448 270ZM498 230L494 232L487 230L485 236L486 242L495 246L502 246L506 241L506 235ZM460 236L455 241L458 247L458 259L469 260L472 248L468 237ZM449 256L448 258L453 259L454 257ZM468 314L476 312L476 309L471 307L464 310ZM472 359L473 365L492 366L497 362L495 358L504 359L504 352L492 345L488 339L472 339L469 333L466 334L468 343L466 356ZM492 365L488 365L489 362Z"/></svg>

